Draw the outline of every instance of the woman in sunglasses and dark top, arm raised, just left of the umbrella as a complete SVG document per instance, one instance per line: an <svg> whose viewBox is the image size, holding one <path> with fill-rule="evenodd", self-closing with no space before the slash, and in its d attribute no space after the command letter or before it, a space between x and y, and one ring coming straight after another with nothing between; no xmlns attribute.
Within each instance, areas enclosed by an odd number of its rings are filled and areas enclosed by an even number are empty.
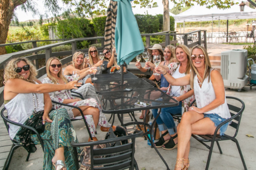
<svg viewBox="0 0 256 170"><path fill-rule="evenodd" d="M103 55L104 55L104 68L107 70L108 74L112 73L120 73L121 69L120 66L117 64L115 60L115 48L113 48L113 53L107 47L103 48ZM125 64L123 64L123 72L126 72Z"/></svg>

